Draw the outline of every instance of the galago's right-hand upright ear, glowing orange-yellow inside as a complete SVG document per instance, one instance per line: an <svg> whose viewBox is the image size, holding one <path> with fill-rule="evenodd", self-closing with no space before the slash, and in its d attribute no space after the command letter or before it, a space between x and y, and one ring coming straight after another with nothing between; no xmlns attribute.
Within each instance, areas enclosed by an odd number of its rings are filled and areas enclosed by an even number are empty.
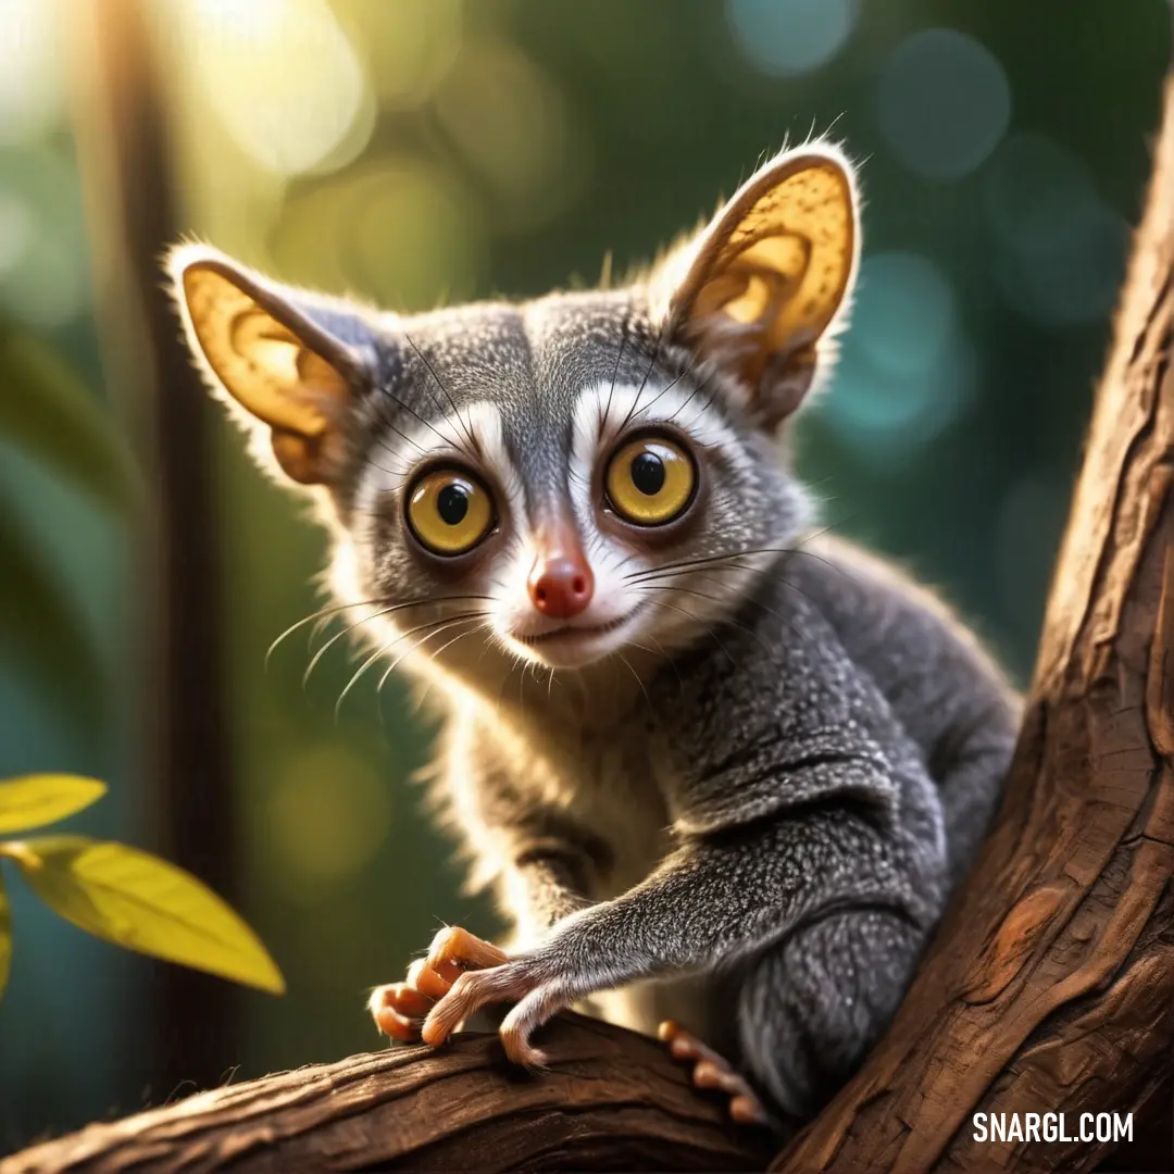
<svg viewBox="0 0 1174 1174"><path fill-rule="evenodd" d="M831 365L858 242L849 160L825 143L784 150L654 274L654 313L775 429Z"/></svg>

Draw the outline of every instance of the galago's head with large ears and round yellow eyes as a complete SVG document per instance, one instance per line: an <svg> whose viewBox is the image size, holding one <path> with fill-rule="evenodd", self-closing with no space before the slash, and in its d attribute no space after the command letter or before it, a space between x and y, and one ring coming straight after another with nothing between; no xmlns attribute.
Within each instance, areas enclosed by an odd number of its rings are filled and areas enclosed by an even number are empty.
<svg viewBox="0 0 1174 1174"><path fill-rule="evenodd" d="M168 268L254 456L325 507L339 601L425 654L561 669L689 643L807 525L777 439L858 239L852 167L812 143L616 290L403 316L204 245Z"/></svg>

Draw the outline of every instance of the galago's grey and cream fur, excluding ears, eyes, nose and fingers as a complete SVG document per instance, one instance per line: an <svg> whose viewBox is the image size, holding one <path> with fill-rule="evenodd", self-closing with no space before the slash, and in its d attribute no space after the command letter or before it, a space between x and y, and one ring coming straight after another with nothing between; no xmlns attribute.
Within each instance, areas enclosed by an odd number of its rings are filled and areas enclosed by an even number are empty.
<svg viewBox="0 0 1174 1174"><path fill-rule="evenodd" d="M646 1031L676 1018L802 1119L899 1003L998 799L1018 700L927 592L814 533L753 389L666 329L650 288L409 319L283 291L369 372L345 466L311 492L373 660L471 606L458 596L499 608L487 635L452 620L405 664L445 720L436 785L472 883L518 925L501 970L539 984L513 1018L575 1001ZM540 679L502 635L502 576L551 519L600 559L615 546L585 517L596 473L569 470L585 396L602 437L616 389L635 423L691 412L720 443L697 443L689 525L615 540L635 571L613 593L642 616L628 643ZM477 463L499 499L472 561L421 555L405 526L413 470L436 459Z"/></svg>

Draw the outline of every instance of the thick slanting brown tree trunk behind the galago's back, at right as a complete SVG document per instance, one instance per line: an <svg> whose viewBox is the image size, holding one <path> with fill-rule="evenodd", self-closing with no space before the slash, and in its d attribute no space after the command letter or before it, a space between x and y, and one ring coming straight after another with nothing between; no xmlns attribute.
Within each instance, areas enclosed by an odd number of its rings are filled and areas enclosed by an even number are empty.
<svg viewBox="0 0 1174 1174"><path fill-rule="evenodd" d="M1174 1058L1174 83L993 832L857 1078L777 1170L1086 1170L971 1114L1127 1112ZM1168 1087L1168 1085L1167 1085Z"/></svg>

